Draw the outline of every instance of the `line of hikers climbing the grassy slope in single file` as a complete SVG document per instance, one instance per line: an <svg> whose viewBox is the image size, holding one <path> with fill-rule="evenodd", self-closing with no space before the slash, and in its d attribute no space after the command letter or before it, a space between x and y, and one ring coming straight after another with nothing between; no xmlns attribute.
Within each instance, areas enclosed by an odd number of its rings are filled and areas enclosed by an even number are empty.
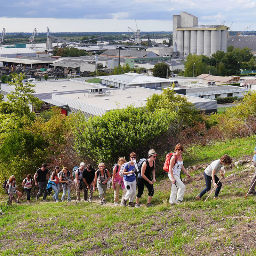
<svg viewBox="0 0 256 256"><path fill-rule="evenodd" d="M171 205L180 204L183 202L183 197L185 193L185 185L181 179L181 170L188 176L191 177L188 171L183 166L182 152L184 148L183 145L178 143L175 147L174 153L169 153L166 156L165 167L163 168L168 172L168 177L172 182L171 195L169 198L169 203ZM253 165L255 166L255 173L250 184L249 194L256 195L255 181L256 181L256 147L253 156ZM27 194L27 203L30 203L30 192L35 181L35 185L38 186L38 193L36 195L36 202L39 197L43 195L43 201L47 202L47 189L52 188L54 190L53 200L55 202L60 202L59 192L60 184L63 190L61 201L65 201L66 194L68 193L67 200L71 201L71 188L75 186L76 190L76 200L80 201L80 191L83 191L85 202L92 202L92 195L97 186L100 197L100 205L106 204L106 193L107 184L114 189L114 204L117 206L119 204L119 192L122 189L122 199L120 202L121 206L130 206L140 208L140 197L143 195L145 186L148 189L148 199L147 206L153 206L151 203L152 197L154 195L154 186L156 183L155 177L155 167L156 167L156 157L157 153L154 149L148 151L148 158L140 159L137 163L137 154L132 152L130 154L130 161L127 162L124 157L119 157L117 164L113 167L112 177L110 177L109 171L105 168L104 163L99 163L98 170L95 171L91 164L85 167L84 162L80 163L79 167L74 167L73 171L70 172L67 167L60 168L56 166L54 171L50 173L47 168L47 164L42 164L35 175L34 180L31 174L22 181L22 186ZM223 155L220 159L213 161L204 170L204 178L206 187L196 196L197 200L201 200L203 195L210 191L211 182L213 182L215 190L215 195L213 199L218 199L221 182L217 176L220 172L221 176L225 176L222 172L221 167L231 164L232 159L228 155ZM167 167L166 167L167 166ZM136 175L137 175L137 194L136 194ZM20 203L21 192L17 190L15 176L11 176L6 182L6 193L9 195L9 204L12 204L14 195L17 195L17 203ZM88 196L89 194L89 196ZM134 203L135 199L135 203Z"/></svg>

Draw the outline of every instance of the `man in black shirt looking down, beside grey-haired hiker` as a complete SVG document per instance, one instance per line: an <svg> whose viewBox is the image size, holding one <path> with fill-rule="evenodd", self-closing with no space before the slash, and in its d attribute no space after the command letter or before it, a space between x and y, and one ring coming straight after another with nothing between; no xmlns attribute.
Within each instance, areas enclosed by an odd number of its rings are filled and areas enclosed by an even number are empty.
<svg viewBox="0 0 256 256"><path fill-rule="evenodd" d="M95 177L95 169L92 168L91 164L88 164L82 173L82 178L84 180L83 189L84 189L84 201L92 203L92 190L93 190L93 180ZM87 200L88 189L90 189L89 200Z"/></svg>

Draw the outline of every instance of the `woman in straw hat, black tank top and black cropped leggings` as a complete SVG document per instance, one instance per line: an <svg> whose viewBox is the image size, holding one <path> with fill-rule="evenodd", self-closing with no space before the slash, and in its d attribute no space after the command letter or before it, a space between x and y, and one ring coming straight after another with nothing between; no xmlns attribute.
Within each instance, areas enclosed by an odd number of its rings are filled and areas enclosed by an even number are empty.
<svg viewBox="0 0 256 256"><path fill-rule="evenodd" d="M137 181L137 186L138 186L138 193L136 196L136 208L140 208L139 200L140 197L143 194L144 191L144 186L148 188L148 201L147 201L147 206L153 206L151 203L152 197L154 195L154 186L153 183L156 182L155 178L155 160L156 160L156 151L154 149L150 149L148 151L148 160L144 161L141 165L141 172L138 174L138 181ZM152 173L153 175L153 180L150 177L150 174Z"/></svg>

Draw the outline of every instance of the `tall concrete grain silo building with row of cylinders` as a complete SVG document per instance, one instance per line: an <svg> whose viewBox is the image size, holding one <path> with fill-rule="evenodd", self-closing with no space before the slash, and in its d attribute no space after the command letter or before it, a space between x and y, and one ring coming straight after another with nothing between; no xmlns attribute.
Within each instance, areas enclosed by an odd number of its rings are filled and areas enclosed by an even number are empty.
<svg viewBox="0 0 256 256"><path fill-rule="evenodd" d="M198 26L198 18L188 12L172 17L174 52L186 58L189 53L210 57L217 51L227 52L228 27L224 25Z"/></svg>

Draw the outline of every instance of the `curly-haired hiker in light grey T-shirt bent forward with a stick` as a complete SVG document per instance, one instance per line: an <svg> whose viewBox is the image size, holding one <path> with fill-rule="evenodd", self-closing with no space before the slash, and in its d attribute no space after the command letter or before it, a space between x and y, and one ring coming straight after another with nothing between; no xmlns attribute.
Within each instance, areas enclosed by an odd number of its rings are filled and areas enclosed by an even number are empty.
<svg viewBox="0 0 256 256"><path fill-rule="evenodd" d="M207 168L204 170L204 178L205 178L205 184L206 188L204 188L199 195L196 196L197 200L200 200L202 196L211 189L211 180L213 182L213 185L216 187L215 195L213 199L217 199L220 193L220 188L222 186L222 183L219 181L219 178L217 177L217 173L220 172L221 176L225 177L224 173L220 170L222 166L231 164L232 159L228 155L223 155L220 157L220 159L213 161L211 164L207 166ZM219 183L218 183L219 182ZM218 183L218 184L217 184Z"/></svg>

